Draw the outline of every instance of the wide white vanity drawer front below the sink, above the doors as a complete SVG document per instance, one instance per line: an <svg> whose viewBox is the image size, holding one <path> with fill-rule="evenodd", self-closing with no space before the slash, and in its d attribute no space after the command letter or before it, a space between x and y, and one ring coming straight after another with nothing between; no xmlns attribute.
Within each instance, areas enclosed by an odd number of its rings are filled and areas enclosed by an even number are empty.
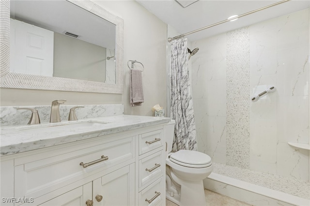
<svg viewBox="0 0 310 206"><path fill-rule="evenodd" d="M116 139L104 144L100 144L102 140L94 141L92 147L89 144L83 147L72 146L75 150L72 147L64 147L67 153L39 153L36 155L45 158L33 162L27 162L27 159L33 159L32 155L23 158L25 163L15 166L15 196L36 198L134 158L135 138ZM108 158L102 159L102 156ZM80 162L86 167L83 168Z"/></svg>

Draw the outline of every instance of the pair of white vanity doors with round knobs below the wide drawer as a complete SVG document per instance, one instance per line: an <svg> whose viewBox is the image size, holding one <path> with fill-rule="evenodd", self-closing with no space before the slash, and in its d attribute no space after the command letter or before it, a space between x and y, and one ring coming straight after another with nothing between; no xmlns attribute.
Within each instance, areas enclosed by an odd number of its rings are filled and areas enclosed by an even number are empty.
<svg viewBox="0 0 310 206"><path fill-rule="evenodd" d="M133 206L134 163L99 177L40 206Z"/></svg>

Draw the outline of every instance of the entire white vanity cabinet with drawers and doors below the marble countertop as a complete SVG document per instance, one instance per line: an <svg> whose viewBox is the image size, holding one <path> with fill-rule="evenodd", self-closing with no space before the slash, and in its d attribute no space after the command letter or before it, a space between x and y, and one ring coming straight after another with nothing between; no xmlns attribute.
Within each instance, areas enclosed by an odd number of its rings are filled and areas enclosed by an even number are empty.
<svg viewBox="0 0 310 206"><path fill-rule="evenodd" d="M165 205L164 130L160 124L2 156L1 199L15 200L1 205Z"/></svg>

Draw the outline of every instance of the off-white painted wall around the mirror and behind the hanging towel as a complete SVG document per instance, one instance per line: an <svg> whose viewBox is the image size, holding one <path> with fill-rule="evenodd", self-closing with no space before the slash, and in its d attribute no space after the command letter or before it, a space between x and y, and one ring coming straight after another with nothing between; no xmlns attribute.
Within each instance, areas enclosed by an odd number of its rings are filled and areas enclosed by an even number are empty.
<svg viewBox="0 0 310 206"><path fill-rule="evenodd" d="M134 0L94 1L124 19L124 93L100 94L84 92L29 89L0 89L0 105L49 105L53 100L66 99L66 104L123 103L125 114L152 115L156 103L166 108L166 39L167 27ZM144 103L132 108L129 104L129 69L127 60L143 63Z"/></svg>

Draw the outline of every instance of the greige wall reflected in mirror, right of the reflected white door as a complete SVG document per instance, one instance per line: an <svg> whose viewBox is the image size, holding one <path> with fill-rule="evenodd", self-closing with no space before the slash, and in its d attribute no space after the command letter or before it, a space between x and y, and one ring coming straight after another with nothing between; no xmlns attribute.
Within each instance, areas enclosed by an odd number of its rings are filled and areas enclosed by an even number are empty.
<svg viewBox="0 0 310 206"><path fill-rule="evenodd" d="M107 48L54 32L53 76L106 81Z"/></svg>

